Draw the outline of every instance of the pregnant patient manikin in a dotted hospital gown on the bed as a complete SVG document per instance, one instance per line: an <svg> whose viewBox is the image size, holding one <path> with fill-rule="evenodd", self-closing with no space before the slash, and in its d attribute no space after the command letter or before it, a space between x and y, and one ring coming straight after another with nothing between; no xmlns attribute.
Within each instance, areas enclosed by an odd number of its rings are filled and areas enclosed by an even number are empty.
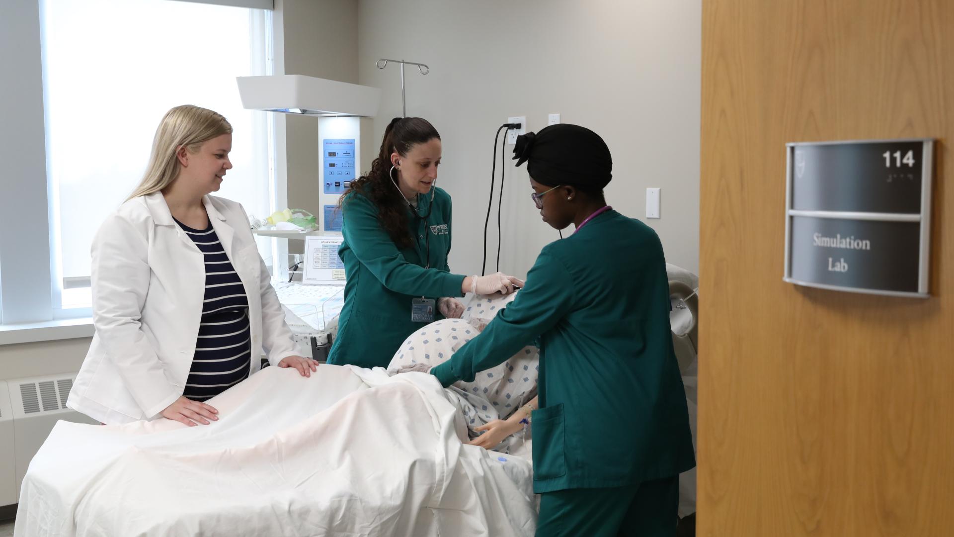
<svg viewBox="0 0 954 537"><path fill-rule="evenodd" d="M504 310L516 297L499 294L474 296L460 319L435 321L404 340L388 365L389 373L436 366L445 362L467 341L481 333L498 311ZM533 345L521 349L504 363L477 374L473 382L458 381L447 389L461 409L467 435L479 436L479 427L495 419L508 419L514 412L536 397L540 351ZM517 433L497 446L495 451L512 453L523 447L524 436Z"/></svg>

